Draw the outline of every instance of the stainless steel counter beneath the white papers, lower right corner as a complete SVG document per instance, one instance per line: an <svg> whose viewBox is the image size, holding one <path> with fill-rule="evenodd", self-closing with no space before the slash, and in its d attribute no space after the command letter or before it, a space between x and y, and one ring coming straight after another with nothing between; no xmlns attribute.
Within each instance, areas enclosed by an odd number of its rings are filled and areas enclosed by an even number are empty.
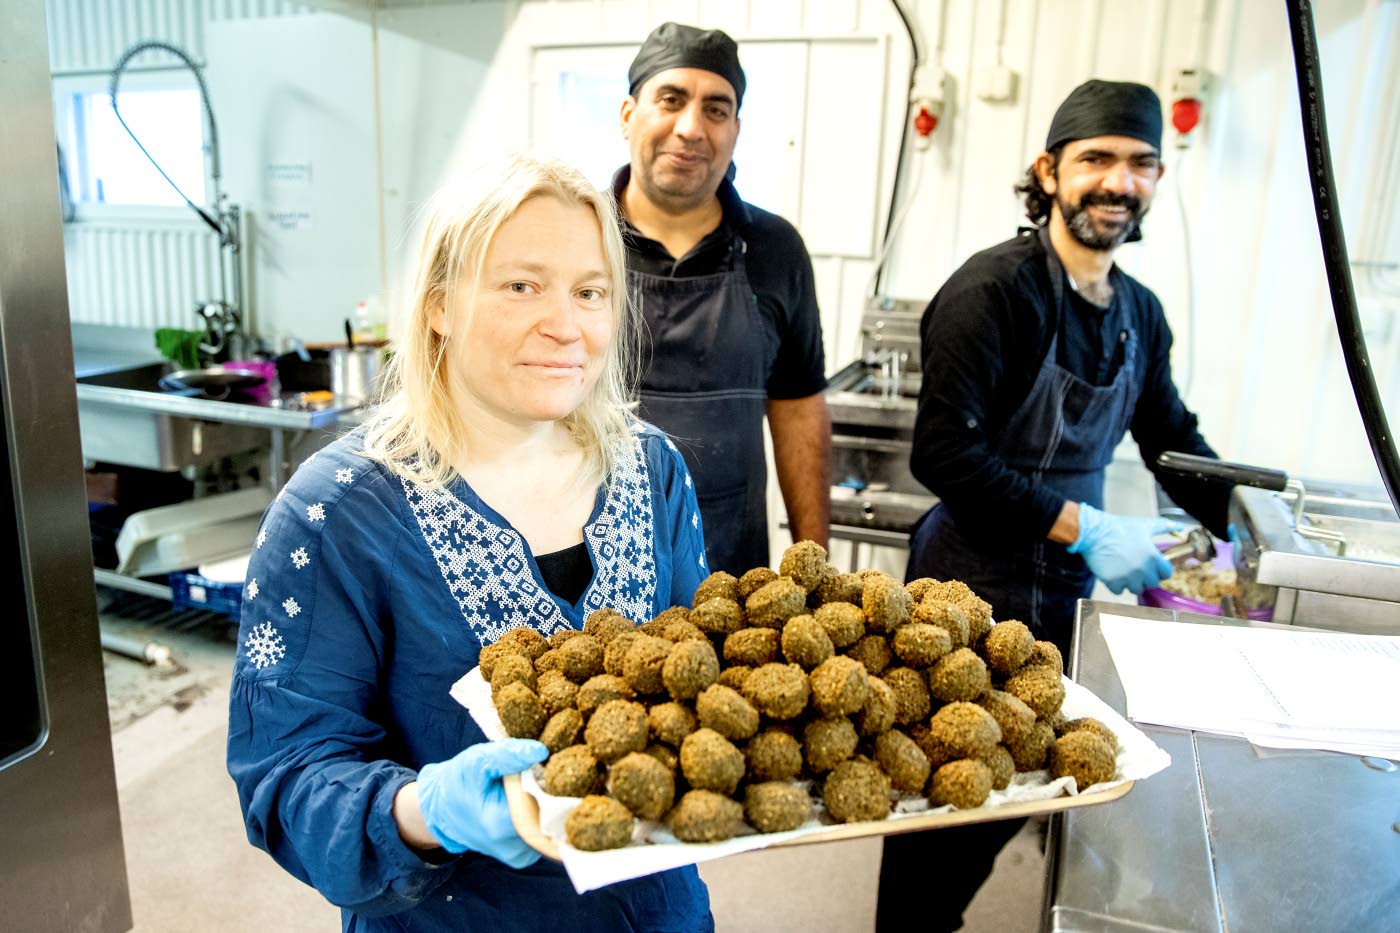
<svg viewBox="0 0 1400 933"><path fill-rule="evenodd" d="M1081 602L1074 678L1120 713L1099 629L1113 615L1215 616ZM1267 626L1267 623L1253 623ZM1183 671L1183 677L1189 677ZM1400 929L1400 770L1334 752L1144 727L1172 766L1050 824L1044 930Z"/></svg>

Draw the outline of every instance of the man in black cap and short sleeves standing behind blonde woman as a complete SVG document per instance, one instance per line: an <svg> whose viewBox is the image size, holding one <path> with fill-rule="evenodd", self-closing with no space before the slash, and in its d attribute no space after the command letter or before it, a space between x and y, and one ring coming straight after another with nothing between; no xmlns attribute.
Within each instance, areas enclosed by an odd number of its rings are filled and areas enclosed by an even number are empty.
<svg viewBox="0 0 1400 933"><path fill-rule="evenodd" d="M763 417L792 539L826 544L830 415L812 261L792 224L745 203L734 39L666 22L627 73L613 179L633 297L650 332L641 417L696 482L710 570L769 566Z"/></svg>

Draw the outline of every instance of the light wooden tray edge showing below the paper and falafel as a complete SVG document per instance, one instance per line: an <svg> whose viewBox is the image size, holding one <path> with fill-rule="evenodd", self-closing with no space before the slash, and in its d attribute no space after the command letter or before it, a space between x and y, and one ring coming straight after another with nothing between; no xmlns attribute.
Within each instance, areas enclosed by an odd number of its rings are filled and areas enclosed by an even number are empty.
<svg viewBox="0 0 1400 933"><path fill-rule="evenodd" d="M515 832L529 848L539 852L546 859L560 860L559 845L545 835L539 827L539 804L521 786L519 775L507 775L504 779L505 800L511 808L511 821ZM917 832L920 829L945 829L948 827L962 827L970 822L993 822L995 820L1019 820L1023 817L1039 817L1061 810L1075 810L1078 807L1093 807L1096 804L1113 803L1133 790L1131 780L1109 790L1092 794L1051 797L1050 800L1026 800L1022 803L1002 804L1001 807L976 807L973 810L952 810L949 813L932 813L923 817L906 817L904 820L885 820L881 822L847 822L818 829L802 836L781 839L774 842L771 849L781 846L805 846L819 842L841 842L844 839L865 839L869 836L893 836L902 832Z"/></svg>

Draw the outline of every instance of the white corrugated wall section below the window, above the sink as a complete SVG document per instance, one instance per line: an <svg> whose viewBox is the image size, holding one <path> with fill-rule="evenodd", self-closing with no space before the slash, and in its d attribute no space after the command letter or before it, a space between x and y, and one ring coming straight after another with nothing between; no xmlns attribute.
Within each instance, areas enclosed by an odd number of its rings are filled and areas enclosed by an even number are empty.
<svg viewBox="0 0 1400 933"><path fill-rule="evenodd" d="M64 252L76 324L190 331L195 304L220 297L218 248L203 226L69 224Z"/></svg>

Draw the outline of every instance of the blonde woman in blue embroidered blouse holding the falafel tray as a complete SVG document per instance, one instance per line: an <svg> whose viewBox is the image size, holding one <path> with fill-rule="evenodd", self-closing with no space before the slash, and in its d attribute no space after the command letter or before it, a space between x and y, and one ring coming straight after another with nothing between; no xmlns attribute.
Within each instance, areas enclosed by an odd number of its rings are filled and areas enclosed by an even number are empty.
<svg viewBox="0 0 1400 933"><path fill-rule="evenodd" d="M346 930L710 930L694 869L575 895L448 688L528 625L644 622L708 573L685 462L627 415L610 200L517 157L430 206L385 401L304 464L249 565L228 769L249 839Z"/></svg>

